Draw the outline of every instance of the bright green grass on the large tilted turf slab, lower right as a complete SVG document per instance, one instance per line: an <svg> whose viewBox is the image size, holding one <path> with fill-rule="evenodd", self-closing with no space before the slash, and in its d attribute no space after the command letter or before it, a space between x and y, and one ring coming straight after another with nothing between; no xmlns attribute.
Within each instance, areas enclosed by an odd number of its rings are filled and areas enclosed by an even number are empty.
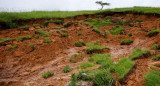
<svg viewBox="0 0 160 86"><path fill-rule="evenodd" d="M118 63L114 65L114 70L118 74L119 80L125 77L125 75L130 71L134 64L134 61L131 61L128 58L123 58L120 59L120 61L118 61Z"/></svg>

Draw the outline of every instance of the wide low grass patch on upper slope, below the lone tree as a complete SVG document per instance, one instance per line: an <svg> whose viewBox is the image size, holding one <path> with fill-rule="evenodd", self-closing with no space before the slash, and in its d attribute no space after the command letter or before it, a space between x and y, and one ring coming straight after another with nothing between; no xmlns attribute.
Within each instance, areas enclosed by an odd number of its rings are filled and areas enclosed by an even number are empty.
<svg viewBox="0 0 160 86"><path fill-rule="evenodd" d="M100 19L88 18L87 21L82 24L90 25L91 27L102 27L102 26L106 26L106 25L111 25L112 23L109 19L101 21Z"/></svg>

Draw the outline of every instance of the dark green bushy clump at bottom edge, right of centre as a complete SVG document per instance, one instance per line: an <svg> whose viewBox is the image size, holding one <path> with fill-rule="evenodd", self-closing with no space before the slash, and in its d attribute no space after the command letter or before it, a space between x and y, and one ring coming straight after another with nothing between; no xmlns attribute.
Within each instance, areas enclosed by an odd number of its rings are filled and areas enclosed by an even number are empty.
<svg viewBox="0 0 160 86"><path fill-rule="evenodd" d="M97 71L93 80L94 86L113 86L114 77L108 71Z"/></svg>

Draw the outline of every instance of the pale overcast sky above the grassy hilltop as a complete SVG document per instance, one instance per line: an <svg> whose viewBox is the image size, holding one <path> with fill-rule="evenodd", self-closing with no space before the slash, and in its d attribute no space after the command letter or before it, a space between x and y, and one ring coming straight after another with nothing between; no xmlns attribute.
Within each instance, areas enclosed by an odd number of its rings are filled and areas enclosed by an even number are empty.
<svg viewBox="0 0 160 86"><path fill-rule="evenodd" d="M0 11L75 11L97 10L97 0L0 0ZM149 6L160 7L160 0L100 0L111 3L107 8Z"/></svg>

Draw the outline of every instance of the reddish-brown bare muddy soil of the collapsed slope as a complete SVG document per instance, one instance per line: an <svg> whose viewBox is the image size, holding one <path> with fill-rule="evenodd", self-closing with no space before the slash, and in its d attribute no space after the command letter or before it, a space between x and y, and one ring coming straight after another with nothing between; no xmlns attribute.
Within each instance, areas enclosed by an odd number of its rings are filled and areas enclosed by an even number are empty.
<svg viewBox="0 0 160 86"><path fill-rule="evenodd" d="M114 61L123 57L129 57L132 51L136 48L150 49L153 55L160 54L159 50L153 49L153 44L160 44L160 34L148 37L147 32L160 28L160 17L154 15L138 15L138 14L113 14L112 19L129 20L144 20L144 22L135 23L134 27L129 25L120 25L125 28L121 35L109 34L107 38L93 32L90 26L82 25L87 18L104 19L107 15L98 17L97 15L78 16L76 18L65 18L67 21L76 21L75 23L61 29L68 31L68 37L62 37L57 29L46 29L47 32L52 32L49 37L35 38L35 30L43 29L40 26L30 27L29 29L11 28L0 31L0 38L31 35L32 39L24 41L9 41L0 46L0 80L4 81L4 86L64 86L70 79L71 74L78 72L78 67L81 63L88 60L88 55L84 47L75 47L75 41L83 40L86 43L91 41L101 40L102 45L109 46L109 54ZM21 24L44 24L44 20L24 21ZM54 23L49 23L47 28L53 26L61 26ZM111 30L112 25L100 27L100 30ZM82 35L78 35L81 32ZM128 36L132 33L132 36ZM43 43L45 38L50 38L51 43ZM133 39L131 45L120 45L123 39ZM30 43L35 44L35 49L30 48ZM8 51L8 46L17 45L18 48ZM77 63L71 63L70 57L73 54L82 53L82 58ZM108 53L108 52L106 52ZM137 59L136 66L131 74L121 83L120 86L145 86L144 74L150 70L152 58ZM63 68L69 65L73 70L69 73L63 73ZM47 71L53 71L53 76L44 79L42 74Z"/></svg>

